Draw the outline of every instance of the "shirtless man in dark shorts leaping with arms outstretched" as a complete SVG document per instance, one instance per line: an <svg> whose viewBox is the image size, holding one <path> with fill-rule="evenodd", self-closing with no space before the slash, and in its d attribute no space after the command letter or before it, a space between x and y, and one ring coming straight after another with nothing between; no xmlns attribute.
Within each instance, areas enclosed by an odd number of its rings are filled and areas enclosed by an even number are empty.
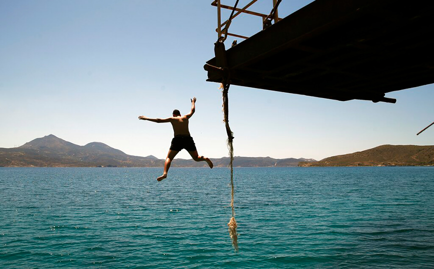
<svg viewBox="0 0 434 269"><path fill-rule="evenodd" d="M212 161L209 158L199 156L197 154L193 138L190 136L190 132L188 131L188 119L193 115L195 111L194 103L196 102L196 97L193 97L190 100L191 110L188 114L185 114L183 116L181 116L181 113L178 109L173 110L173 116L168 118L149 118L145 116L138 116L138 119L150 120L157 123L170 122L173 127L174 137L172 139L169 152L167 153L167 157L164 162L164 172L161 176L157 177L158 181L161 181L167 177L167 171L170 168L171 161L182 148L185 148L188 153L190 153L193 160L206 161L206 163L208 163L209 165L209 168L212 168L213 166Z"/></svg>

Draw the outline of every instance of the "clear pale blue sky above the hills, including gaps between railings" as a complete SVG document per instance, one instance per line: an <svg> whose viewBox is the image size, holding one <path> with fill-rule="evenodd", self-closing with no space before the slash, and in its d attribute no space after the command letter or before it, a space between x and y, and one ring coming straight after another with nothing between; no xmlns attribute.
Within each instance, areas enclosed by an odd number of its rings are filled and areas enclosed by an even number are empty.
<svg viewBox="0 0 434 269"><path fill-rule="evenodd" d="M283 0L279 16L309 2ZM52 133L79 145L99 141L165 158L170 124L137 116L168 117L175 108L187 113L196 96L190 132L198 153L227 156L221 91L205 81L203 70L217 39L210 3L0 0L0 147ZM268 13L271 0L252 7ZM240 16L230 27L251 35L261 21ZM321 159L381 144L432 145L434 126L415 134L434 120L433 89L390 92L386 96L397 99L390 104L231 86L234 154Z"/></svg>

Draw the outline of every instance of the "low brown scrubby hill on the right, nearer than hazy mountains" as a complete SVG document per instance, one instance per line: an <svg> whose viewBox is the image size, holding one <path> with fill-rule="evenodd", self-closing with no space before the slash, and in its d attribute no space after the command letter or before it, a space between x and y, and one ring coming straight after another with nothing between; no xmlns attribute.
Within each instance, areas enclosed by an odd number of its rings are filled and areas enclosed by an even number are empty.
<svg viewBox="0 0 434 269"><path fill-rule="evenodd" d="M434 165L434 145L380 145L350 154L332 156L299 166L404 166Z"/></svg>

